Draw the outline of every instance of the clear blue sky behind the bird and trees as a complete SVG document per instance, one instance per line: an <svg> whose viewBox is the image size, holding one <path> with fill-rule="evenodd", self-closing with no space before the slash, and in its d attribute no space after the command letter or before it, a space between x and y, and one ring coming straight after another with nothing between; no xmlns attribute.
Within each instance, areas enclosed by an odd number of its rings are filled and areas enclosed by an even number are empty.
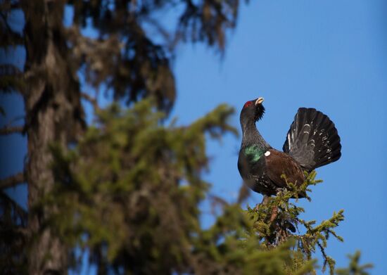
<svg viewBox="0 0 387 275"><path fill-rule="evenodd" d="M372 274L387 270L386 1L243 3L224 58L200 44L180 46L174 70L178 94L172 116L179 117L180 124L229 103L236 108L231 122L239 128L243 103L263 96L267 112L258 129L281 149L299 107L329 115L341 136L343 155L317 170L324 183L313 188L311 203L300 201L306 210L303 217L319 222L344 209L345 221L336 231L344 243L330 239L328 254L343 267L348 263L345 255L359 249L362 262L374 263ZM20 100L5 99L10 117L20 115L15 108ZM20 170L25 153L18 136L6 141L0 153L14 158L1 158L4 177ZM213 184L212 193L229 201L236 200L241 185L236 168L240 142L231 135L221 144L208 142L212 162L205 178ZM248 204L260 200L254 193ZM203 216L205 226L211 220Z"/></svg>

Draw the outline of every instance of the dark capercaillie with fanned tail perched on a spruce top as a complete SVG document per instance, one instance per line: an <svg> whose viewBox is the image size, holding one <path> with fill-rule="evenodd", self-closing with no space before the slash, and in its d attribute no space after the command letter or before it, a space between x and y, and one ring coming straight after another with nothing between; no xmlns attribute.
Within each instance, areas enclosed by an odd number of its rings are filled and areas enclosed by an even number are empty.
<svg viewBox="0 0 387 275"><path fill-rule="evenodd" d="M314 108L299 108L282 150L272 148L258 132L255 122L262 118L263 98L247 101L241 110L242 145L238 170L245 184L265 196L275 195L288 182L300 186L303 171L338 160L340 137L334 122ZM300 198L305 194L299 194Z"/></svg>

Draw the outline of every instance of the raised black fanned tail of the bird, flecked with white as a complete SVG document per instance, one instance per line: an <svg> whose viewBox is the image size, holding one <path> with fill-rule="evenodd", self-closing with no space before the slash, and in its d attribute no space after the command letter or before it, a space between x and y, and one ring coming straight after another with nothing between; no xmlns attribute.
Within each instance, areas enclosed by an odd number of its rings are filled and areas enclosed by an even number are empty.
<svg viewBox="0 0 387 275"><path fill-rule="evenodd" d="M341 157L340 136L329 117L315 108L299 108L282 148L306 170Z"/></svg>

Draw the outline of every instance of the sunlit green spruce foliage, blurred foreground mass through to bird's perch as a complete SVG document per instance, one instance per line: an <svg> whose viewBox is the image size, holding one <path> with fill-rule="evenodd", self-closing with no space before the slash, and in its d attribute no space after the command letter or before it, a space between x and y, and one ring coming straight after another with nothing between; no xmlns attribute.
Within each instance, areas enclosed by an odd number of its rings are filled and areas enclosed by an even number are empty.
<svg viewBox="0 0 387 275"><path fill-rule="evenodd" d="M254 209L223 203L222 215L203 230L198 206L209 187L201 179L208 168L205 134L235 133L227 124L232 109L220 105L187 127L164 126L151 102L99 110L76 148L64 153L51 146L57 184L39 207L57 211L47 226L70 246L89 250L104 271L307 274L312 252L321 250L333 274L334 260L324 248L343 211L314 226L289 201L319 182L315 173ZM305 230L293 234L293 226Z"/></svg>

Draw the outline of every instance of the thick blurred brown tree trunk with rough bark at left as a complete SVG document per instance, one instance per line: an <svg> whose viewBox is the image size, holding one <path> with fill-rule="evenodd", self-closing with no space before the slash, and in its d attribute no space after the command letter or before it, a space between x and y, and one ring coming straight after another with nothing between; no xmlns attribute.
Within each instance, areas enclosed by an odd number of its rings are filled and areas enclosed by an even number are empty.
<svg viewBox="0 0 387 275"><path fill-rule="evenodd" d="M44 227L54 210L37 203L55 183L50 169L51 143L67 146L82 130L83 111L76 72L70 68L63 32L64 1L25 0L27 58L25 100L28 155L28 228L32 243L29 274L65 274L68 250L51 229Z"/></svg>

